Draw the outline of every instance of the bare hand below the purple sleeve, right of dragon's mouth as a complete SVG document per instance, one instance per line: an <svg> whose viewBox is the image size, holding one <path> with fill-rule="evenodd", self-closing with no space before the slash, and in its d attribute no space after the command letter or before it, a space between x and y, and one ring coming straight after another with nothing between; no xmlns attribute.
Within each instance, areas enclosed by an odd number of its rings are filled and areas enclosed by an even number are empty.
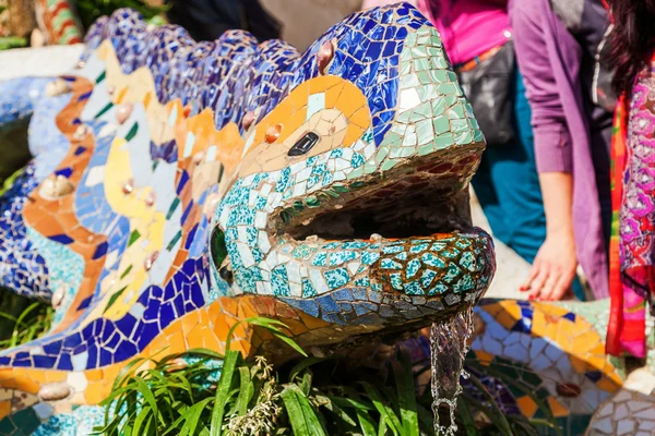
<svg viewBox="0 0 655 436"><path fill-rule="evenodd" d="M577 258L572 232L548 234L521 291L528 300L558 301L571 289Z"/></svg>

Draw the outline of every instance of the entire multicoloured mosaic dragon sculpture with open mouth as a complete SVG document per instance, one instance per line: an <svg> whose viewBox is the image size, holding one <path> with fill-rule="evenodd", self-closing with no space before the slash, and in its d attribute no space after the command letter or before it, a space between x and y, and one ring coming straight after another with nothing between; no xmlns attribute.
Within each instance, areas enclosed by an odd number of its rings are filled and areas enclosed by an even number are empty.
<svg viewBox="0 0 655 436"><path fill-rule="evenodd" d="M0 434L88 434L130 360L224 351L239 319L347 353L489 286L467 194L484 138L414 8L354 14L302 55L243 32L196 44L129 10L85 44L70 75L0 84L0 132L31 118L35 156L0 198L0 284L56 307L48 334L0 352ZM539 373L526 380L565 425L619 388L582 316L476 314L477 359ZM240 325L233 347L288 359L274 339Z"/></svg>

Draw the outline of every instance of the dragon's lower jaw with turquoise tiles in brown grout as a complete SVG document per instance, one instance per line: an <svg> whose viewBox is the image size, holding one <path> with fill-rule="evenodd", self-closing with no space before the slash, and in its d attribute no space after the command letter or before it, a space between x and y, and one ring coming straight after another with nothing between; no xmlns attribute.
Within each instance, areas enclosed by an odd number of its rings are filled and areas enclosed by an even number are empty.
<svg viewBox="0 0 655 436"><path fill-rule="evenodd" d="M312 346L343 347L349 338L370 335L394 337L448 318L477 303L495 272L492 240L476 228L412 238L377 234L368 240L327 241L312 237L299 244L286 242L281 252L309 246L308 253L315 253L308 258L312 265L308 268L315 267L310 276L341 270L350 278L318 294L278 296L327 323L324 329L310 329L298 338ZM348 257L353 249L357 257Z"/></svg>

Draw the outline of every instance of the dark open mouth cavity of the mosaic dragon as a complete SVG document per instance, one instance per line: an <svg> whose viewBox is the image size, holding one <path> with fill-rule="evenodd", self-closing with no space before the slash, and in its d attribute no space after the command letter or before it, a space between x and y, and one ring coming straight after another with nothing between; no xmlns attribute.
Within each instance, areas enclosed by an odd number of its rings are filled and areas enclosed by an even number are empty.
<svg viewBox="0 0 655 436"><path fill-rule="evenodd" d="M455 166L473 162L465 157ZM390 178L396 180L392 183L364 186L324 207L307 208L288 227L278 229L296 241L313 235L322 240L413 239L471 230L466 181L453 177L455 166L426 164L414 173Z"/></svg>

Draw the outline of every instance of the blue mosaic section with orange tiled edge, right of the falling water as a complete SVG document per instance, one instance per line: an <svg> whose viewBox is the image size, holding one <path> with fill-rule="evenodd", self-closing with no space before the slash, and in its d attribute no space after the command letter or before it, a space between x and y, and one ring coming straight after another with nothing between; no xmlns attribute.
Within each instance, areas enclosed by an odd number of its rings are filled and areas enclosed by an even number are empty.
<svg viewBox="0 0 655 436"><path fill-rule="evenodd" d="M551 417L563 435L585 434L624 375L605 354L606 330L581 314L598 316L606 308L604 302L573 307L527 301L479 304L469 358L476 367L488 368L486 383L495 386L505 413ZM516 384L500 384L495 374Z"/></svg>

